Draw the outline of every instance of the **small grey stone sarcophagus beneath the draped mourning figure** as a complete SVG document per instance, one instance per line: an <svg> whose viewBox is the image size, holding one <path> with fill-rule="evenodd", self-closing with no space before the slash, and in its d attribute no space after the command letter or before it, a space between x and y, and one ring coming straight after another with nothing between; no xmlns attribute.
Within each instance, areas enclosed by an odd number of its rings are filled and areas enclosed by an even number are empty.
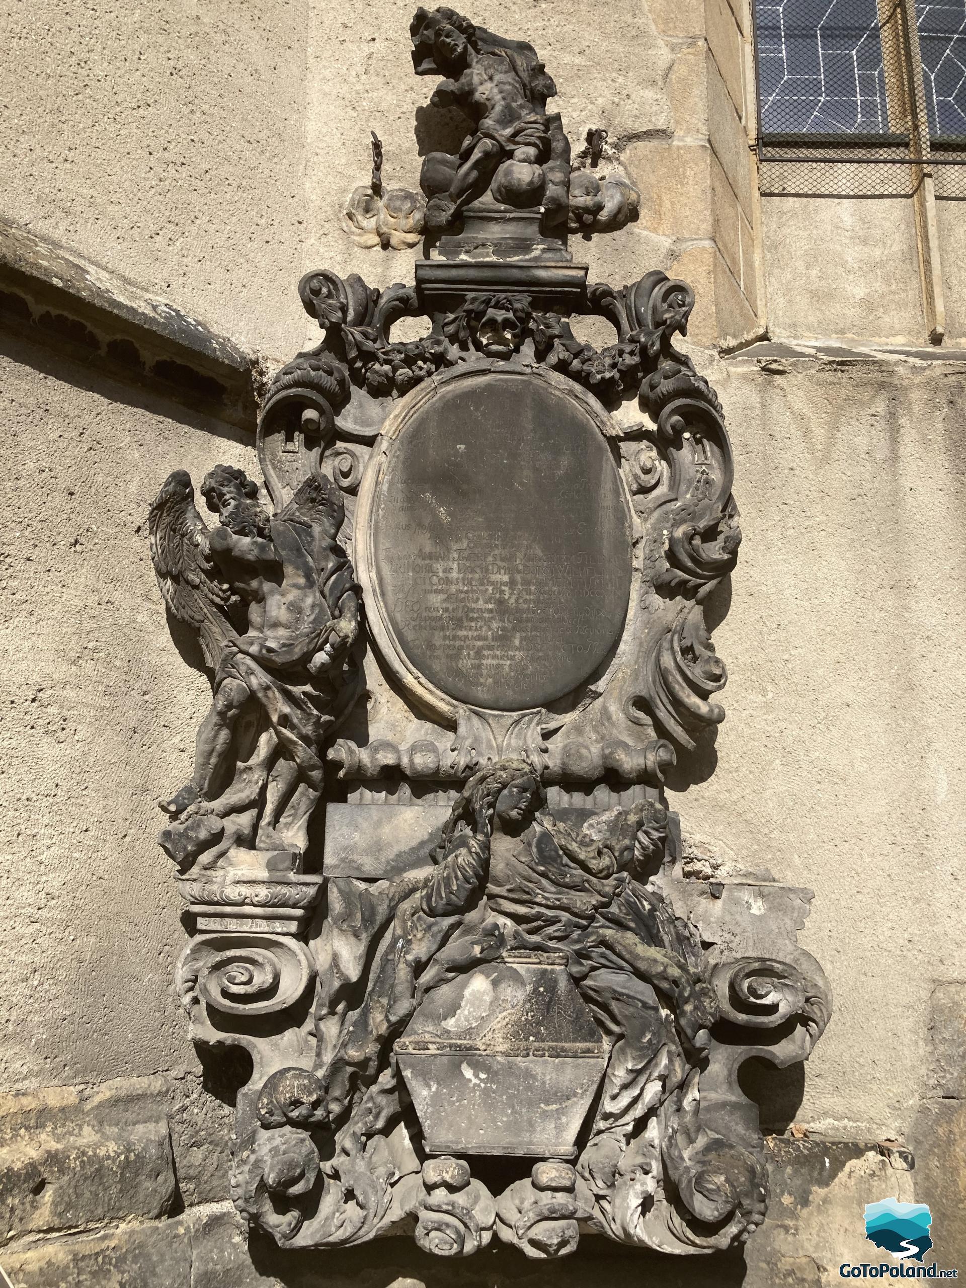
<svg viewBox="0 0 966 1288"><path fill-rule="evenodd" d="M459 975L395 1043L429 1154L574 1158L609 1054L562 953Z"/></svg>

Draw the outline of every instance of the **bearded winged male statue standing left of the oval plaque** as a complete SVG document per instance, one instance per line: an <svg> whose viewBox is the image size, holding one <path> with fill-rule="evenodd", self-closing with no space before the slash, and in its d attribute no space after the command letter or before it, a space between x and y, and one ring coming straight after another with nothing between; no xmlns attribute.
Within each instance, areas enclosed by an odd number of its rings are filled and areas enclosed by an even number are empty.
<svg viewBox="0 0 966 1288"><path fill-rule="evenodd" d="M161 594L214 671L194 773L160 802L171 819L160 841L184 868L234 850L273 868L291 858L298 871L323 786L321 744L357 690L359 590L337 541L341 496L313 474L270 516L258 484L231 465L206 474L201 493L215 528L185 470L169 477L149 515Z"/></svg>

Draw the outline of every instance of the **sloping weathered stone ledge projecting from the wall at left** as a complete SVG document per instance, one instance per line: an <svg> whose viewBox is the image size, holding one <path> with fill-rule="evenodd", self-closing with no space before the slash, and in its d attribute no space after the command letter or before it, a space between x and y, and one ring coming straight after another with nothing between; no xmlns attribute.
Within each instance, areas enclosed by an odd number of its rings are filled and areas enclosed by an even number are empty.
<svg viewBox="0 0 966 1288"><path fill-rule="evenodd" d="M115 379L255 429L261 362L118 273L0 220L0 323Z"/></svg>

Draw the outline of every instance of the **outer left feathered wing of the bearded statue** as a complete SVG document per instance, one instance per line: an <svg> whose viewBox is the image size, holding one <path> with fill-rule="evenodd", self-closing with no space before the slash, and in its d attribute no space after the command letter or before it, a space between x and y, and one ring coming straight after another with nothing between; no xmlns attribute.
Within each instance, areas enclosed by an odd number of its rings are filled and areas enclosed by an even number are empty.
<svg viewBox="0 0 966 1288"><path fill-rule="evenodd" d="M187 470L167 477L151 506L148 531L165 603L179 622L198 632L206 665L218 666L223 645L238 638L227 611L232 592L219 581Z"/></svg>

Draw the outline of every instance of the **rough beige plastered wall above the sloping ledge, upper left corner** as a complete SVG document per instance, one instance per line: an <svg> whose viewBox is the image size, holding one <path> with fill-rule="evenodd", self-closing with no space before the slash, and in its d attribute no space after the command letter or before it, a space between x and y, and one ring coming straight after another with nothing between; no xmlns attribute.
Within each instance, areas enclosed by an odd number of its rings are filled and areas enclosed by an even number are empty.
<svg viewBox="0 0 966 1288"><path fill-rule="evenodd" d="M201 314L298 344L308 0L4 5L0 214Z"/></svg>

